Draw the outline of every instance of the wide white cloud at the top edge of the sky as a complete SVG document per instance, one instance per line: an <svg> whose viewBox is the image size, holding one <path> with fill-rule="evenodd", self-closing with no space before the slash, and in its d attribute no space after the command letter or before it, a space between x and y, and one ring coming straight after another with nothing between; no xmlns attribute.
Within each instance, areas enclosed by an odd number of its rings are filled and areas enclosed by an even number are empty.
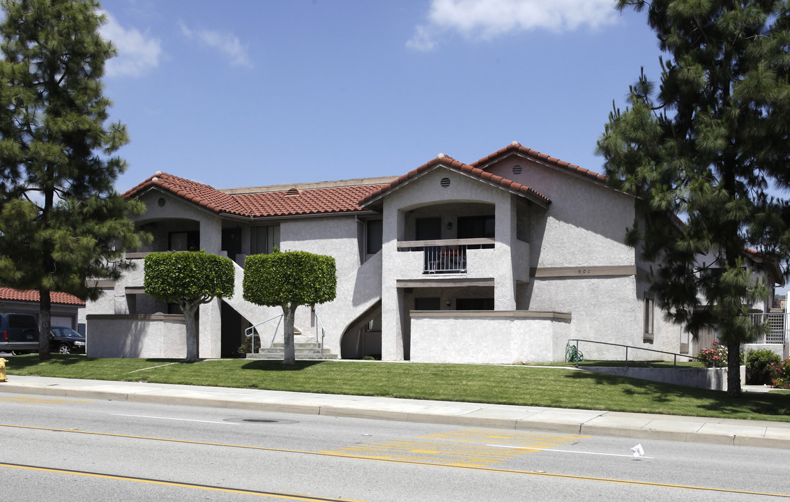
<svg viewBox="0 0 790 502"><path fill-rule="evenodd" d="M430 51L443 32L472 40L491 40L510 32L598 28L617 19L614 0L432 0L427 24L418 25L406 43Z"/></svg>

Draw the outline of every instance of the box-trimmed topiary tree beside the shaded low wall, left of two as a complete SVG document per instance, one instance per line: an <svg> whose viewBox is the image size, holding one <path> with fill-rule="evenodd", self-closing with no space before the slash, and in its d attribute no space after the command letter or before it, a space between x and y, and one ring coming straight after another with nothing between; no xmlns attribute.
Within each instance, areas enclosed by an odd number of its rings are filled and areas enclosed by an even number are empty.
<svg viewBox="0 0 790 502"><path fill-rule="evenodd" d="M145 256L145 293L179 304L186 323L186 360L198 360L195 312L214 298L233 296L233 262L205 251L150 253Z"/></svg>

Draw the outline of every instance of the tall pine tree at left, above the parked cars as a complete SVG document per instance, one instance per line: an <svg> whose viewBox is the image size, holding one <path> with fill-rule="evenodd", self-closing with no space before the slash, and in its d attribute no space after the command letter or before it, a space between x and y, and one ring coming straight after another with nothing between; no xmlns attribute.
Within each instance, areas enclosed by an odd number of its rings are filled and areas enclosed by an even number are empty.
<svg viewBox="0 0 790 502"><path fill-rule="evenodd" d="M106 125L104 62L114 55L92 0L3 0L0 21L0 281L40 293L40 357L50 292L95 299L86 278L117 278L141 235L113 188L126 126ZM92 285L96 285L93 281Z"/></svg>

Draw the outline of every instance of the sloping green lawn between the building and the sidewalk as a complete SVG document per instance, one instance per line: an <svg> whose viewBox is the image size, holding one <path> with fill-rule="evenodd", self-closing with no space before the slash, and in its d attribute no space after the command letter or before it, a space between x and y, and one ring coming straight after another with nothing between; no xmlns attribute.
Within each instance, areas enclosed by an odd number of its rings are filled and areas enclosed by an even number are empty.
<svg viewBox="0 0 790 502"><path fill-rule="evenodd" d="M9 381L14 375L38 375L790 421L790 394L732 399L724 392L564 368L379 361L297 361L284 366L265 360L183 363L60 354L48 361L37 355L7 360Z"/></svg>

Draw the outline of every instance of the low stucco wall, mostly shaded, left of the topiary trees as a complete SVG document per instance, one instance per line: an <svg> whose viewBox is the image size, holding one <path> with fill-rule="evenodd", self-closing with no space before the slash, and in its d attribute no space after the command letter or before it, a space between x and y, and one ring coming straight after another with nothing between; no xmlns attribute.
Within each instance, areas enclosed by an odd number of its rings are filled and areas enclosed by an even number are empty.
<svg viewBox="0 0 790 502"><path fill-rule="evenodd" d="M87 315L86 319L88 357L186 357L183 315Z"/></svg>

